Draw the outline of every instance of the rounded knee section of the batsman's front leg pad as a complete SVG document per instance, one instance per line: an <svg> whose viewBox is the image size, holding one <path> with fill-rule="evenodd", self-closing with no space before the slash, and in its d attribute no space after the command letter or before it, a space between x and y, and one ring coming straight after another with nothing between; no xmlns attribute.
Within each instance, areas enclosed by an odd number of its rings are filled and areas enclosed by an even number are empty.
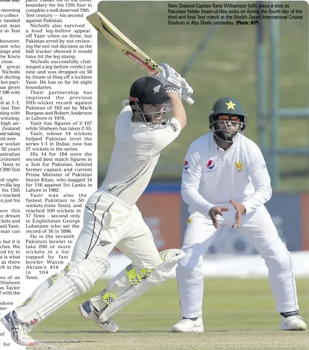
<svg viewBox="0 0 309 350"><path fill-rule="evenodd" d="M109 269L109 263L100 257L91 257L73 266L66 277L69 278L80 294L88 292L100 276Z"/></svg>

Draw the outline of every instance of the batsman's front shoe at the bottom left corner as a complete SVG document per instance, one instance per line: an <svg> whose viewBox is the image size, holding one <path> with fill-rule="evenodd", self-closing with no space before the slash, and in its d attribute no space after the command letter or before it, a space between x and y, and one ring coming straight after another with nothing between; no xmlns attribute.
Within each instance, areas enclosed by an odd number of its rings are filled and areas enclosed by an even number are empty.
<svg viewBox="0 0 309 350"><path fill-rule="evenodd" d="M35 341L29 335L29 325L17 319L15 311L1 318L1 322L11 332L11 337L19 345L35 345Z"/></svg>

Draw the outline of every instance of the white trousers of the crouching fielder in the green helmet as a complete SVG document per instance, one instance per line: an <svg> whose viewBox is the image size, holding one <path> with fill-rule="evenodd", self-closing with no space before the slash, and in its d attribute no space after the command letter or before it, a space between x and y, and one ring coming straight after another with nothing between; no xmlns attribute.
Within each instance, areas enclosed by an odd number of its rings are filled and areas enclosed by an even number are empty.
<svg viewBox="0 0 309 350"><path fill-rule="evenodd" d="M185 257L179 261L176 269L183 317L202 316L203 257L213 243L216 233L225 226L232 227L235 223L235 213L235 209L230 208L223 213L223 217L217 215L218 231L210 218L199 212L190 215L182 248ZM298 310L291 258L266 208L262 206L248 215L243 215L238 230L265 260L276 310L279 312Z"/></svg>

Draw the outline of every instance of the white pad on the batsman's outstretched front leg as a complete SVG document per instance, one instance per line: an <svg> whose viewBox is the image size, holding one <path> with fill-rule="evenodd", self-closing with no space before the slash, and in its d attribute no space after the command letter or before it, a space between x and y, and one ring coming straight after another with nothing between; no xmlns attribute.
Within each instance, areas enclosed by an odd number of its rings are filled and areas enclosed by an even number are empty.
<svg viewBox="0 0 309 350"><path fill-rule="evenodd" d="M28 325L37 325L61 306L90 290L108 269L109 263L102 258L85 259L73 266L66 276L55 280L41 297L17 309L18 320Z"/></svg>

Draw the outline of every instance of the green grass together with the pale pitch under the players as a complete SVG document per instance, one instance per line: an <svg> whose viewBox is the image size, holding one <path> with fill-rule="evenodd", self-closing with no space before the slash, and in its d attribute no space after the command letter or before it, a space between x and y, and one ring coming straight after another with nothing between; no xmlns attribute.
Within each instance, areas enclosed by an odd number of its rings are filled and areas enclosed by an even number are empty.
<svg viewBox="0 0 309 350"><path fill-rule="evenodd" d="M280 315L266 279L205 280L203 334L170 333L179 321L176 280L152 288L115 315L117 333L105 333L79 315L77 306L100 292L96 283L35 327L29 349L57 350L308 350L308 331L278 332ZM309 280L298 279L301 315L309 321Z"/></svg>

